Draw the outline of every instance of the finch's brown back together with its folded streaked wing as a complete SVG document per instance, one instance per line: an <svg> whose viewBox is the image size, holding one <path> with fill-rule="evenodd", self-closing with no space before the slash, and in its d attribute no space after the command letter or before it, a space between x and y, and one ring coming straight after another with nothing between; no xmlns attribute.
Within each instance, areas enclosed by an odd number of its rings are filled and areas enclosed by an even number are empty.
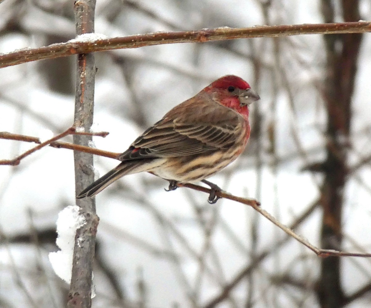
<svg viewBox="0 0 371 308"><path fill-rule="evenodd" d="M206 106L202 102L197 104L194 99L201 99L199 96L169 111L139 136L119 159L179 157L227 150L240 140L244 119L216 102Z"/></svg>

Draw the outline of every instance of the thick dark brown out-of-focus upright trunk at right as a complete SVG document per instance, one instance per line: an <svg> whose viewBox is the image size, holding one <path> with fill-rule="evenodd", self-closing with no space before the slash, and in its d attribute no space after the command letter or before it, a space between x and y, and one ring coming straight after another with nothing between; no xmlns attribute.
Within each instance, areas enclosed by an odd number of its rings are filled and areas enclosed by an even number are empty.
<svg viewBox="0 0 371 308"><path fill-rule="evenodd" d="M343 0L345 22L359 20L358 0ZM334 3L322 0L325 22L335 19ZM357 71L361 34L325 36L327 76L324 99L327 109L327 158L323 166L325 180L321 191L323 220L321 248L341 249L342 206L347 177L347 143L351 123L351 97ZM341 288L340 259L331 256L321 260L318 296L321 307L341 307L344 293Z"/></svg>

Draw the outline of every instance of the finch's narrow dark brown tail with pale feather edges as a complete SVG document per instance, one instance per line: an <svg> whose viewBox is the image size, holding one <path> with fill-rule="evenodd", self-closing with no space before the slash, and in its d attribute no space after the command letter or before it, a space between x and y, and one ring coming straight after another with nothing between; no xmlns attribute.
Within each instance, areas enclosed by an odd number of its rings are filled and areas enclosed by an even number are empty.
<svg viewBox="0 0 371 308"><path fill-rule="evenodd" d="M81 199L84 197L95 196L97 193L105 189L109 184L118 180L120 177L123 177L131 173L133 169L135 169L141 164L142 162L138 162L138 161L122 162L116 168L112 169L111 171L106 173L104 176L98 178L98 180L96 180L91 185L86 187L83 191L81 191L81 193L79 193L79 195L76 198Z"/></svg>

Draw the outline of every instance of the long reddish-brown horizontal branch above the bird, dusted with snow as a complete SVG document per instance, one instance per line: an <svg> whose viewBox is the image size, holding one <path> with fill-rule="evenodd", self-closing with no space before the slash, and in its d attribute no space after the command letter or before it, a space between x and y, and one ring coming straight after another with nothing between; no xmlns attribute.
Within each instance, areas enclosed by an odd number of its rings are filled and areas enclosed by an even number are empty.
<svg viewBox="0 0 371 308"><path fill-rule="evenodd" d="M0 68L35 60L55 59L78 53L104 50L137 48L174 43L205 43L219 40L247 39L252 37L279 37L304 34L334 34L371 32L371 22L294 24L278 26L255 26L249 28L220 27L197 31L160 32L108 39L81 36L65 43L52 44L35 49L24 49L0 55ZM90 37L90 39L88 39ZM96 36L97 38L97 36Z"/></svg>

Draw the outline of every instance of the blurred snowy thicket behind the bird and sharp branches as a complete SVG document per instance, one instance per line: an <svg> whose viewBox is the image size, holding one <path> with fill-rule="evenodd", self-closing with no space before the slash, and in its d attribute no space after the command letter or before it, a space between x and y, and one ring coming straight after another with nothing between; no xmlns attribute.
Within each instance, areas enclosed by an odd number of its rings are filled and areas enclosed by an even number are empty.
<svg viewBox="0 0 371 308"><path fill-rule="evenodd" d="M0 52L75 37L73 1L4 0ZM220 26L371 20L368 0L98 0L108 37ZM220 76L250 83L252 135L210 178L253 197L321 248L371 252L371 36L305 35L95 54L94 137L122 152ZM42 141L73 124L75 57L0 70L0 131ZM72 138L65 138L72 141ZM33 147L0 140L0 159ZM101 175L117 161L96 157ZM75 204L73 153L43 148L0 166L0 307L65 307L52 271L55 221ZM96 197L93 307L370 307L371 260L318 258L250 207L126 176Z"/></svg>

